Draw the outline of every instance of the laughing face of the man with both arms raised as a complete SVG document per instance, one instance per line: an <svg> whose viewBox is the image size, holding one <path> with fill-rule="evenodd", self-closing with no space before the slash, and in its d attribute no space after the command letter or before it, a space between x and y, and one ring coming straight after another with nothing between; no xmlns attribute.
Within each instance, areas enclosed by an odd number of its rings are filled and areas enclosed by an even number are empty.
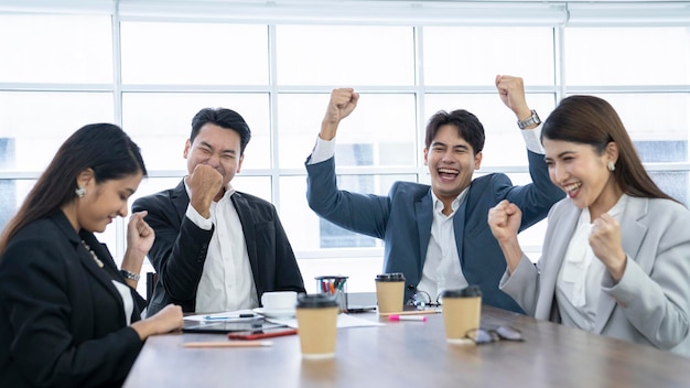
<svg viewBox="0 0 690 388"><path fill-rule="evenodd" d="M475 155L457 127L443 125L424 149L424 164L429 166L433 193L450 205L472 183L474 171L482 164L482 152Z"/></svg>

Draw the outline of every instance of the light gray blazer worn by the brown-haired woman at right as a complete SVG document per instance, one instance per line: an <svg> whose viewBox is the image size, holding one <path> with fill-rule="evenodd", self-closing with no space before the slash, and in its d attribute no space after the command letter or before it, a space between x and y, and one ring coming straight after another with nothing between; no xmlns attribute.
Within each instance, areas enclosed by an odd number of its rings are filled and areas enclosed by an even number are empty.
<svg viewBox="0 0 690 388"><path fill-rule="evenodd" d="M542 256L526 256L499 288L525 311L560 322L556 280L581 211L565 198L549 212ZM630 197L621 216L625 273L605 272L594 333L690 356L690 212L669 200Z"/></svg>

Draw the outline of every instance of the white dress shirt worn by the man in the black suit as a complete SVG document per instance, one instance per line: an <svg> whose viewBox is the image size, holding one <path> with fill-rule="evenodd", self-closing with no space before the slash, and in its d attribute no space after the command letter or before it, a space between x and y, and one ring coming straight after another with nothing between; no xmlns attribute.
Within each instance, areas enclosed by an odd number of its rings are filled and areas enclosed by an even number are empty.
<svg viewBox="0 0 690 388"><path fill-rule="evenodd" d="M190 187L185 183L187 195ZM204 271L196 289L196 311L219 312L259 306L245 234L237 209L230 201L235 190L228 185L225 195L211 204L211 218L204 218L190 204L186 216L200 228L211 230ZM191 195L190 195L191 197Z"/></svg>

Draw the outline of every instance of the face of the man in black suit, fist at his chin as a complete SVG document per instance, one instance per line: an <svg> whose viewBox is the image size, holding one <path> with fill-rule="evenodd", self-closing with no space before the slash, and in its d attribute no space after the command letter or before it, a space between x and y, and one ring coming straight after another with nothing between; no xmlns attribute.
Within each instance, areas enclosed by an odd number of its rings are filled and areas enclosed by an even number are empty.
<svg viewBox="0 0 690 388"><path fill-rule="evenodd" d="M207 164L223 175L223 187L240 171L244 155L240 154L239 133L214 123L205 123L194 138L184 147L190 174L197 164Z"/></svg>

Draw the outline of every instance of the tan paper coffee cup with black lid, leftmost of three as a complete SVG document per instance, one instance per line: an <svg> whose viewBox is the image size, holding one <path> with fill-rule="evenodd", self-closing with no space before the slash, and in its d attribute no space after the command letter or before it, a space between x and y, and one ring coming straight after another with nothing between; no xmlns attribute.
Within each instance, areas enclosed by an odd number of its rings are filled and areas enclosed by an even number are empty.
<svg viewBox="0 0 690 388"><path fill-rule="evenodd" d="M335 357L338 304L335 295L300 294L298 297L298 334L302 357Z"/></svg>

